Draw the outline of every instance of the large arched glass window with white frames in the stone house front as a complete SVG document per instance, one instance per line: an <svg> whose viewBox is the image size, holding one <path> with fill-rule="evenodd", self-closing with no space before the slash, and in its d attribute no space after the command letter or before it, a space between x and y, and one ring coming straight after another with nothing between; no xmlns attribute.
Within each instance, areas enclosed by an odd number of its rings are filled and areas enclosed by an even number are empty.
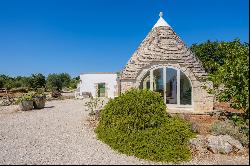
<svg viewBox="0 0 250 166"><path fill-rule="evenodd" d="M139 88L159 92L166 104L192 105L190 80L179 69L162 67L148 71Z"/></svg>

